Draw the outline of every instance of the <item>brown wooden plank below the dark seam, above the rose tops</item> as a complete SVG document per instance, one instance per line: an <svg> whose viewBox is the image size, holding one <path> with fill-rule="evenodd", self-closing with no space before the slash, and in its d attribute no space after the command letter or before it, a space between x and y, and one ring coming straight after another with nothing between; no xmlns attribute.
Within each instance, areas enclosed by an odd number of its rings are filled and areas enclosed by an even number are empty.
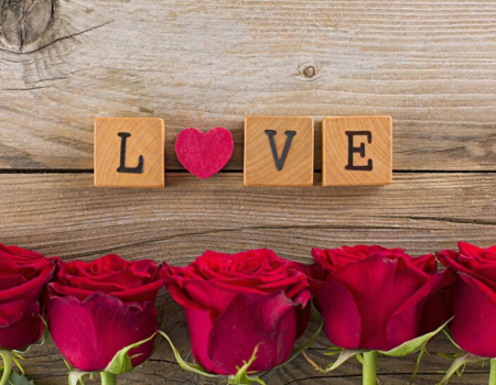
<svg viewBox="0 0 496 385"><path fill-rule="evenodd" d="M174 264L205 249L268 246L309 261L312 246L378 242L413 255L495 243L496 174L398 174L387 187L245 187L242 175L168 174L163 190L93 187L90 174L0 175L3 243L65 258L118 252Z"/></svg>

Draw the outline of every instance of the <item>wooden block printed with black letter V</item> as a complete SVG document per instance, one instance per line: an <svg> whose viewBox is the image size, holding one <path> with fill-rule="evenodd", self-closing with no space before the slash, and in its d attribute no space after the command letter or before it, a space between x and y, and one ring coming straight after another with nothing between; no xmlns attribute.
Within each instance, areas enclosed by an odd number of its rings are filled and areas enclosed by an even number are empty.
<svg viewBox="0 0 496 385"><path fill-rule="evenodd" d="M245 186L313 186L313 118L245 118Z"/></svg>

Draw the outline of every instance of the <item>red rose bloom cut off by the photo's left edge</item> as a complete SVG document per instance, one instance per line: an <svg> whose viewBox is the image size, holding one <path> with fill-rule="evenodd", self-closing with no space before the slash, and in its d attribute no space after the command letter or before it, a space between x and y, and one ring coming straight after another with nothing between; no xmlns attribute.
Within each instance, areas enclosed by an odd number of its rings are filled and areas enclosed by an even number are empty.
<svg viewBox="0 0 496 385"><path fill-rule="evenodd" d="M0 349L21 350L43 336L45 285L54 258L0 244Z"/></svg>

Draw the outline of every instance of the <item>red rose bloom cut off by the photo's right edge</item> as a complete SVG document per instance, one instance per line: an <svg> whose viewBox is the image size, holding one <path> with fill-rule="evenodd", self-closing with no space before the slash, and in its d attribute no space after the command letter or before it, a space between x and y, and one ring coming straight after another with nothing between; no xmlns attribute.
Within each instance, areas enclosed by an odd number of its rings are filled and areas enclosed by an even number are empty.
<svg viewBox="0 0 496 385"><path fill-rule="evenodd" d="M450 287L453 340L468 353L496 356L496 246L481 249L460 242L459 251L438 253L455 273Z"/></svg>

